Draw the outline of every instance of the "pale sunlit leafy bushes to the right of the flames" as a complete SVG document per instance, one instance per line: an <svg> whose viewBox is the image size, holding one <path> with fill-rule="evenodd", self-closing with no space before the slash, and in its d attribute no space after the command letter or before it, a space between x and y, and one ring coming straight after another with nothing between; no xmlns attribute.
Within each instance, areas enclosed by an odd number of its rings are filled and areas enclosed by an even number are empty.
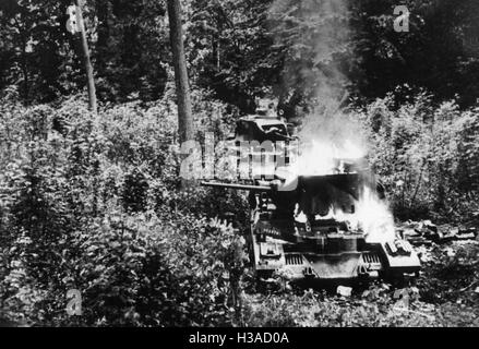
<svg viewBox="0 0 479 349"><path fill-rule="evenodd" d="M435 106L426 93L409 99L396 108L388 95L358 113L396 215L470 218L479 207L479 110Z"/></svg>

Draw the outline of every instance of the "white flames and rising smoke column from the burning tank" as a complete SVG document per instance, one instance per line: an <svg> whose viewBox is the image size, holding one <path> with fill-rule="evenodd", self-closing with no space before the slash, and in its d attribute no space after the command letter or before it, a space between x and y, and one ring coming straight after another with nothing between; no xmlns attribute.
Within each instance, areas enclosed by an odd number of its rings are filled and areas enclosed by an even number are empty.
<svg viewBox="0 0 479 349"><path fill-rule="evenodd" d="M290 35L296 41L286 40L290 48L284 87L290 88L289 82L301 83L312 95L312 111L300 127L301 154L295 164L296 171L328 174L333 173L337 158L363 158L368 143L361 124L342 109L349 83L340 68L340 56L347 52L350 35L348 1L276 0L271 15L277 19L274 23L278 27L273 32L279 43L284 44L285 35L295 33L295 25L308 28L296 37ZM370 242L394 240L394 218L387 204L370 188L364 186L361 193L354 214L334 214L361 229Z"/></svg>

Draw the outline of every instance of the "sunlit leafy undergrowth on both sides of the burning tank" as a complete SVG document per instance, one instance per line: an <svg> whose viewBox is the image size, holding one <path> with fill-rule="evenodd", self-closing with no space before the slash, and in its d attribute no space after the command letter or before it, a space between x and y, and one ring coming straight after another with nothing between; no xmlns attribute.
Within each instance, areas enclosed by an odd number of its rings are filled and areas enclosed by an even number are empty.
<svg viewBox="0 0 479 349"><path fill-rule="evenodd" d="M193 96L196 128L226 133L232 116L225 106L204 92ZM391 310L393 291L381 288L371 290L375 301L352 303L327 294L249 294L242 228L211 220L232 212L246 222L246 201L230 191L177 190L169 98L104 108L97 117L77 98L57 108L2 100L2 316L43 325L441 324ZM462 112L453 101L434 109L427 95L398 110L391 104L379 99L355 113L370 131L370 160L396 212L460 219L477 210L477 111ZM470 151L462 152L466 145ZM475 261L477 252L469 254ZM434 267L430 273L454 266ZM426 299L438 301L439 279L424 279ZM81 317L64 311L69 289L82 290Z"/></svg>

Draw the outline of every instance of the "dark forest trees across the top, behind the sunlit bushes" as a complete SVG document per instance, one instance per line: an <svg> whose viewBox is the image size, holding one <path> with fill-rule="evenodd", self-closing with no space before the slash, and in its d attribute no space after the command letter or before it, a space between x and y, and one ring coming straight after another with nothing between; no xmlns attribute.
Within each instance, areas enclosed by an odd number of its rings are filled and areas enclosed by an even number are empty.
<svg viewBox="0 0 479 349"><path fill-rule="evenodd" d="M164 1L85 2L99 98L155 100L171 73ZM77 40L65 28L70 0L0 3L0 88L26 103L81 91ZM248 111L274 91L286 106L314 97L324 80L358 97L384 97L404 83L434 99L476 103L478 16L475 0L184 0L189 73L194 84ZM394 8L409 9L396 33ZM339 67L342 76L335 76ZM349 82L349 83L348 83Z"/></svg>

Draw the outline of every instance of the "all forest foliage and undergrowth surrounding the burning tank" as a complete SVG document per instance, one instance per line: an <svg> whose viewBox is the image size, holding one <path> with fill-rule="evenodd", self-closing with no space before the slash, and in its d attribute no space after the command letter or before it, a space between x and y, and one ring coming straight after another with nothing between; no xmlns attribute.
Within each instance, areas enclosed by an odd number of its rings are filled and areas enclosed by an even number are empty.
<svg viewBox="0 0 479 349"><path fill-rule="evenodd" d="M84 2L96 116L84 100L77 38L64 25L71 1L0 1L0 321L479 325L474 243L427 251L407 312L394 309L388 285L348 300L255 292L244 197L179 190L164 1ZM197 141L205 131L224 139L258 96L275 96L290 120L321 98L349 96L397 218L477 217L478 3L402 1L410 31L396 33L396 2L182 1ZM81 291L82 316L65 312L70 289Z"/></svg>

